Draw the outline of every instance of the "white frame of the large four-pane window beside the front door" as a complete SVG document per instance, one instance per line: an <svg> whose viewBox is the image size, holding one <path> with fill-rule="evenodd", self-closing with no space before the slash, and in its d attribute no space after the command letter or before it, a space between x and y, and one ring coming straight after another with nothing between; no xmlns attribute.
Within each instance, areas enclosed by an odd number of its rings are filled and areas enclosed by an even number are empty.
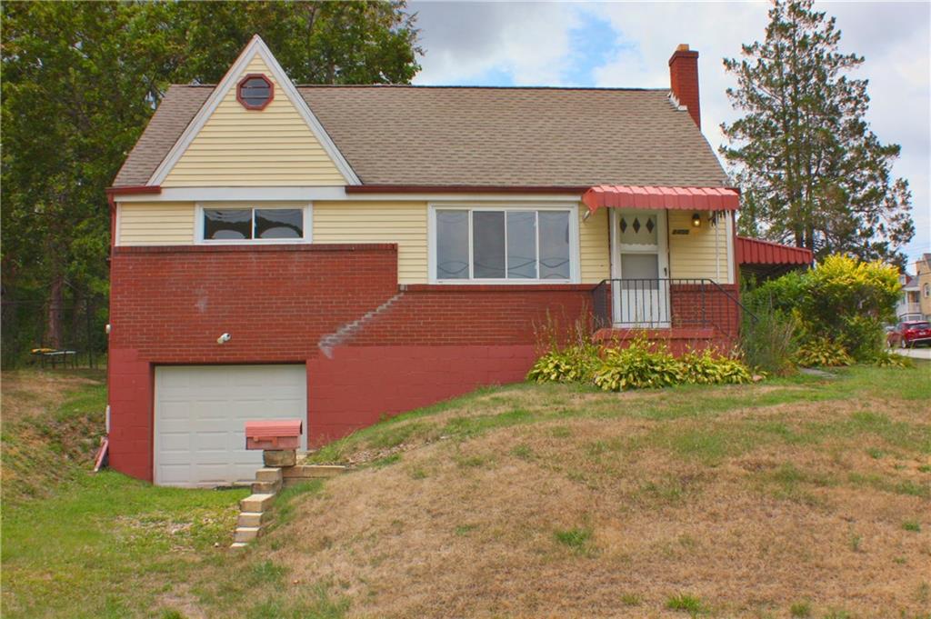
<svg viewBox="0 0 931 619"><path fill-rule="evenodd" d="M468 215L468 263L469 277L466 279L439 279L437 277L437 211L438 210L467 210ZM569 279L540 279L540 265L537 262L537 277L528 279L524 277L508 279L475 279L472 275L472 213L475 211L493 211L505 212L508 210L562 210L569 213ZM579 255L579 214L578 203L476 203L476 202L443 202L430 204L427 213L427 269L429 283L431 284L448 284L458 286L540 286L540 285L560 285L560 284L578 284L581 280L581 264ZM505 222L507 218L505 217ZM505 230L507 230L505 223ZM537 227L537 257L539 258L539 227Z"/></svg>

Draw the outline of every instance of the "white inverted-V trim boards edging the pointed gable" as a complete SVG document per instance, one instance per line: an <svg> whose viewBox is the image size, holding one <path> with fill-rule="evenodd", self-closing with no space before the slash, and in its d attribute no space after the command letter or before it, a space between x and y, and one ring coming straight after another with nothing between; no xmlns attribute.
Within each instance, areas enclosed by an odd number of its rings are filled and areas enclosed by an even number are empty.
<svg viewBox="0 0 931 619"><path fill-rule="evenodd" d="M301 114L304 118L304 122L307 123L311 132L317 137L317 141L320 142L323 150L326 151L327 155L330 155L333 164L340 170L340 173L343 174L346 183L351 185L362 183L359 181L356 172L345 160L343 154L336 148L336 144L333 143L326 129L324 129L320 121L317 120L317 116L311 112L310 107L307 106L307 101L304 101L304 98L297 91L297 88L291 83L290 77L288 77L288 74L281 68L281 65L278 64L278 61L275 59L275 56L268 46L265 45L262 37L256 34L250 40L249 45L239 54L239 58L236 59L236 62L233 63L229 71L223 75L223 80L221 80L220 84L210 93L207 101L204 102L194 119L187 128L184 129L181 138L171 147L169 154L165 156L158 165L158 168L155 168L155 172L152 174L149 181L145 183L146 185L160 185L165 181L171 170L187 151L188 146L191 145L191 142L193 142L197 134L200 133L200 129L207 124L210 116L220 105L220 102L223 101L223 98L226 97L230 89L236 87L236 80L256 56L260 56L262 60L265 61L269 71L275 76L278 86L281 87L281 90L284 92L285 96L288 97L294 109L298 111L298 114Z"/></svg>

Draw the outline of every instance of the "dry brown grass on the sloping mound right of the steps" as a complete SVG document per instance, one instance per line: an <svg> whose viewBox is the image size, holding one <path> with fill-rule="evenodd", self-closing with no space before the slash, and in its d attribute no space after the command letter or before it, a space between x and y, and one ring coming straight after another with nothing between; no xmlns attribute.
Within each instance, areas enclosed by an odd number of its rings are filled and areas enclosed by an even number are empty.
<svg viewBox="0 0 931 619"><path fill-rule="evenodd" d="M453 402L384 424L407 447L296 496L252 556L349 617L919 616L931 410L863 371Z"/></svg>

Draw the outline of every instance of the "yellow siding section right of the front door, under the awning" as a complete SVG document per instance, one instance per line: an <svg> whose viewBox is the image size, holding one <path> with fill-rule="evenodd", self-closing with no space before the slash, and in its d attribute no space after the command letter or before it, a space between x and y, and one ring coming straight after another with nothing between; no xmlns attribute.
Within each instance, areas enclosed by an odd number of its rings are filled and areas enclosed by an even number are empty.
<svg viewBox="0 0 931 619"><path fill-rule="evenodd" d="M701 213L701 227L692 227L692 211L669 212L669 276L707 278L729 283L727 265L727 226L723 219L717 226L708 222L708 212ZM688 230L688 235L674 235ZM717 235L717 238L715 236Z"/></svg>

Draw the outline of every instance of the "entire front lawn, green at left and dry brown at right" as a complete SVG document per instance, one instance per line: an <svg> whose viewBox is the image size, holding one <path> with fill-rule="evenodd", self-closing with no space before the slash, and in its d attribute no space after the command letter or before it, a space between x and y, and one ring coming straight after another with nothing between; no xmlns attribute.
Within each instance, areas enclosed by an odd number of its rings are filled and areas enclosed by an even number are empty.
<svg viewBox="0 0 931 619"><path fill-rule="evenodd" d="M5 505L4 614L931 616L929 369L479 390L317 452L356 470L241 553L235 492L82 474Z"/></svg>

